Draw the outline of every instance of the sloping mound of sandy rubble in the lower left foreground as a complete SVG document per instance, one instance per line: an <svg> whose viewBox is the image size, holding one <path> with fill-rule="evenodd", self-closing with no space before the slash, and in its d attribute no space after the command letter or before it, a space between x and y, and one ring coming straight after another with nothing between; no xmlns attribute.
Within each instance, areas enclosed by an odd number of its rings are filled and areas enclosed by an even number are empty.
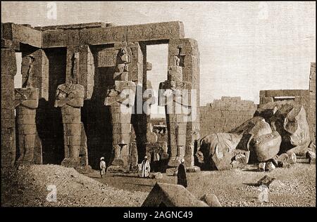
<svg viewBox="0 0 317 222"><path fill-rule="evenodd" d="M54 185L56 202L52 193ZM50 201L46 200L48 195ZM140 206L146 197L147 192L111 188L73 168L58 165L1 170L1 205L4 207L132 207Z"/></svg>

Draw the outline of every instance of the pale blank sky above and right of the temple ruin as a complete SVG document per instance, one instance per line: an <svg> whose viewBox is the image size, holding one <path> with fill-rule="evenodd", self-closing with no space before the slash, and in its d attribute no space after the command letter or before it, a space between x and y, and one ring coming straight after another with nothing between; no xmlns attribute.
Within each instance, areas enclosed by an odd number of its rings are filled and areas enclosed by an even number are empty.
<svg viewBox="0 0 317 222"><path fill-rule="evenodd" d="M310 2L61 2L57 19L48 2L1 2L2 22L63 25L113 22L133 25L180 20L200 51L201 105L221 96L259 103L259 91L308 89L316 61L316 3ZM149 79L166 79L167 46L149 46Z"/></svg>

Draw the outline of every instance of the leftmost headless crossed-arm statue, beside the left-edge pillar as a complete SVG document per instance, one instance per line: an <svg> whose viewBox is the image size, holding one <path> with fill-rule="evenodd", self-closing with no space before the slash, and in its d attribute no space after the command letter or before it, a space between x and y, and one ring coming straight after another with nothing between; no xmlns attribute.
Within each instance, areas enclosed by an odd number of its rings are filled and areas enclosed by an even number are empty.
<svg viewBox="0 0 317 222"><path fill-rule="evenodd" d="M39 89L15 89L15 111L18 136L18 164L34 164L35 156L42 155L42 150L35 150L37 126L36 109L39 105ZM35 152L40 152L35 154Z"/></svg>

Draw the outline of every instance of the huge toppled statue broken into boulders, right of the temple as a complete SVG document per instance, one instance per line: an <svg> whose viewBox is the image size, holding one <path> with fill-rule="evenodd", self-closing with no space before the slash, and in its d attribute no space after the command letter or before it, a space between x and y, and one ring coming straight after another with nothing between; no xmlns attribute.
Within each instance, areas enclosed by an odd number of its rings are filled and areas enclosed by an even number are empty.
<svg viewBox="0 0 317 222"><path fill-rule="evenodd" d="M223 170L248 162L267 162L284 152L301 155L309 143L304 107L278 101L262 105L253 118L229 133L201 138L196 156L204 169Z"/></svg>

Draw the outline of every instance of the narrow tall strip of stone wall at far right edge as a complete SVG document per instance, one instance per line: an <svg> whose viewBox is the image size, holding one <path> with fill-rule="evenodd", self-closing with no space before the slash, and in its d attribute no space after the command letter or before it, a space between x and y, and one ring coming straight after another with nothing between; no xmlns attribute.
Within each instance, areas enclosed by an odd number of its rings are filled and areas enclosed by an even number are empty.
<svg viewBox="0 0 317 222"><path fill-rule="evenodd" d="M316 63L311 63L309 76L309 132L316 143Z"/></svg>

